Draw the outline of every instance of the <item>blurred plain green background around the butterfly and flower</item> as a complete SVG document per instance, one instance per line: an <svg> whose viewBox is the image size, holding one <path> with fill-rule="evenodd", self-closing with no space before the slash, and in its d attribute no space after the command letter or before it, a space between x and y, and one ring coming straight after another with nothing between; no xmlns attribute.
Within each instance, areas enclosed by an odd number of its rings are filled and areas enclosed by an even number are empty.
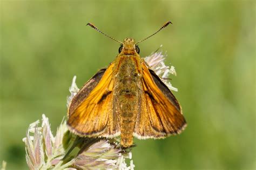
<svg viewBox="0 0 256 170"><path fill-rule="evenodd" d="M176 67L173 92L184 133L135 140L136 169L255 169L254 1L1 1L0 161L27 169L22 138L42 113L53 131L78 87L109 65L119 44L92 22L140 44L142 57L161 44Z"/></svg>

